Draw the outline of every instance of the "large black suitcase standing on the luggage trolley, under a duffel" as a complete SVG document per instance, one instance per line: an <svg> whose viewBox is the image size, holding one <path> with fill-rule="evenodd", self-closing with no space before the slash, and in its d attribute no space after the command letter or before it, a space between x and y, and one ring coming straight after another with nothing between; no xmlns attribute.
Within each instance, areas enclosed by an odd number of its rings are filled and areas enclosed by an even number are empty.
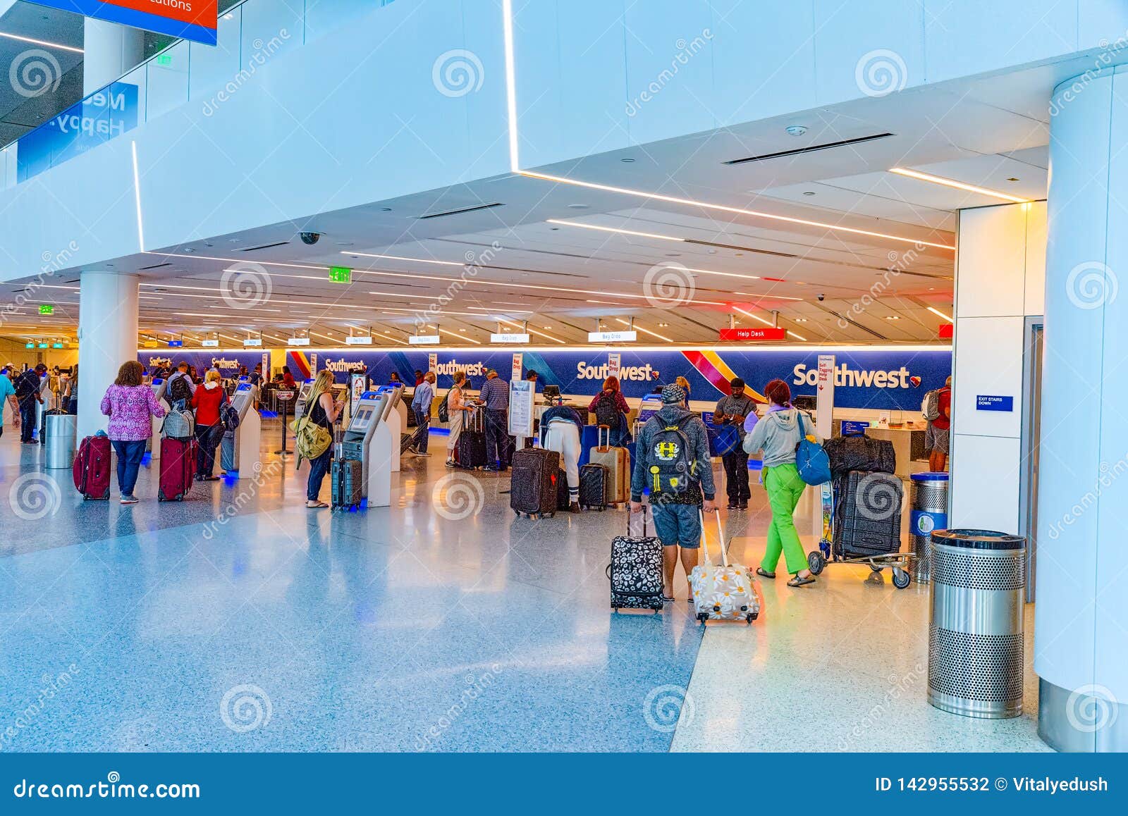
<svg viewBox="0 0 1128 816"><path fill-rule="evenodd" d="M835 552L883 556L901 549L901 480L852 470L835 478Z"/></svg>

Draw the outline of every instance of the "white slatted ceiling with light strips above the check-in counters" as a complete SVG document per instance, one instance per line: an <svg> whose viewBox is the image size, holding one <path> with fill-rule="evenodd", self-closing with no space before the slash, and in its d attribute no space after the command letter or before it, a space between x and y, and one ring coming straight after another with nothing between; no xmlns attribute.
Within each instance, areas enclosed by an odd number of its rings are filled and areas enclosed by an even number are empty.
<svg viewBox="0 0 1128 816"><path fill-rule="evenodd" d="M855 100L95 268L141 276L140 343L261 331L284 345L308 331L329 345L371 328L377 345L438 329L473 346L527 326L534 343L575 345L600 321L633 321L640 342L702 344L730 316L791 343L934 342L951 317L957 211L1045 198L1049 114L1034 99L1056 71ZM3 336L73 340L79 270L65 252L51 265L43 289L3 284ZM333 266L351 283L332 283Z"/></svg>

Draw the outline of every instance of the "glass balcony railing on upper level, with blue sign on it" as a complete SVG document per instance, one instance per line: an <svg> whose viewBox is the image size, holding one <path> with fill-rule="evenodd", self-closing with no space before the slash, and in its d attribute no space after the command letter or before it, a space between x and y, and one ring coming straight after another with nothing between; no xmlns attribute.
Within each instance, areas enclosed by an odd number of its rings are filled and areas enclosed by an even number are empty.
<svg viewBox="0 0 1128 816"><path fill-rule="evenodd" d="M393 0L243 0L222 10L218 45L178 39L0 150L0 190L116 139L173 108L241 87L287 51ZM220 3L220 9L224 3ZM147 50L149 41L147 41Z"/></svg>

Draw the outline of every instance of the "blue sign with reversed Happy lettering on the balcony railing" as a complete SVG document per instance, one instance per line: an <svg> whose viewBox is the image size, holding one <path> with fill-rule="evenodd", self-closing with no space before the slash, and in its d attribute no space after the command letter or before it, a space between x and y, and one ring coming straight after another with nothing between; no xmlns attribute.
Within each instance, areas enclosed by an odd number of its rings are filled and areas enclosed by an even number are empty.
<svg viewBox="0 0 1128 816"><path fill-rule="evenodd" d="M113 82L71 105L19 140L19 181L108 142L138 125L138 87Z"/></svg>

